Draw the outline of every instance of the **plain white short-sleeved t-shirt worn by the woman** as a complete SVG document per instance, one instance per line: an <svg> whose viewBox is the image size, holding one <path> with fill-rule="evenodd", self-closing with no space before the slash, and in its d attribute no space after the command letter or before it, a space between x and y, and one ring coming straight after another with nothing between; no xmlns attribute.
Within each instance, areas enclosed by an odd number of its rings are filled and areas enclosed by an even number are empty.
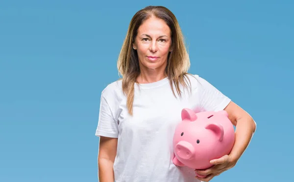
<svg viewBox="0 0 294 182"><path fill-rule="evenodd" d="M193 169L172 162L173 132L181 110L218 111L231 100L198 75L188 77L192 94L189 87L181 87L182 98L174 97L168 78L135 84L133 117L127 111L122 81L102 91L95 135L118 138L115 182L199 182Z"/></svg>

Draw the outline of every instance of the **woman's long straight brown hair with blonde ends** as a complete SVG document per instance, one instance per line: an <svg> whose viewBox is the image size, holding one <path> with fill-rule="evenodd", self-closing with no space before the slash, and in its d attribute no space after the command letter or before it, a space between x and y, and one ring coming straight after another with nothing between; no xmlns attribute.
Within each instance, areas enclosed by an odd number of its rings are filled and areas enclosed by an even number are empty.
<svg viewBox="0 0 294 182"><path fill-rule="evenodd" d="M139 60L136 50L132 49L140 25L152 16L164 20L172 31L172 51L168 55L168 62L165 73L169 78L173 95L175 96L173 84L176 92L181 96L179 84L187 87L185 77L190 68L190 59L185 47L184 37L173 13L164 6L147 6L138 11L130 21L126 37L118 59L118 70L123 76L123 93L127 97L127 108L130 115L133 114L134 84L140 74ZM191 74L189 74L191 75Z"/></svg>

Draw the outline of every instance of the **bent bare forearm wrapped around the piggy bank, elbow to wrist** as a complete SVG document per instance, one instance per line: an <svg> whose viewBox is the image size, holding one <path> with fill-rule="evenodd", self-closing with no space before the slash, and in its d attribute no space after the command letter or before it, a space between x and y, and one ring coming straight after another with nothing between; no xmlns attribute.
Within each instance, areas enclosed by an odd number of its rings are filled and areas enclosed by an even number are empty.
<svg viewBox="0 0 294 182"><path fill-rule="evenodd" d="M249 145L256 129L256 123L249 115L237 119L236 123L235 144L230 156L237 161Z"/></svg>

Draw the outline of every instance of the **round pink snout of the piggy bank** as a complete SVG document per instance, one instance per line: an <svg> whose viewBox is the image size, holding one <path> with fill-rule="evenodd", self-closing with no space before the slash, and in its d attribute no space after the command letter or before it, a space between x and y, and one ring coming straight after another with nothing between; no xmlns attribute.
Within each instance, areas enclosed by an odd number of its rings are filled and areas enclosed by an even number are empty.
<svg viewBox="0 0 294 182"><path fill-rule="evenodd" d="M175 146L176 154L185 160L189 160L195 153L193 145L186 141L180 141Z"/></svg>

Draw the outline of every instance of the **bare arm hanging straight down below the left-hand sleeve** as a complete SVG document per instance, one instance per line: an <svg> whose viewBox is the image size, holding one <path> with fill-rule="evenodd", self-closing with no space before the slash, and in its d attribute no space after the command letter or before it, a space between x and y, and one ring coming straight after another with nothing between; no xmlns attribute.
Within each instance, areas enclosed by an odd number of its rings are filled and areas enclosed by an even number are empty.
<svg viewBox="0 0 294 182"><path fill-rule="evenodd" d="M113 163L117 153L117 138L99 137L98 178L99 182L114 182Z"/></svg>

